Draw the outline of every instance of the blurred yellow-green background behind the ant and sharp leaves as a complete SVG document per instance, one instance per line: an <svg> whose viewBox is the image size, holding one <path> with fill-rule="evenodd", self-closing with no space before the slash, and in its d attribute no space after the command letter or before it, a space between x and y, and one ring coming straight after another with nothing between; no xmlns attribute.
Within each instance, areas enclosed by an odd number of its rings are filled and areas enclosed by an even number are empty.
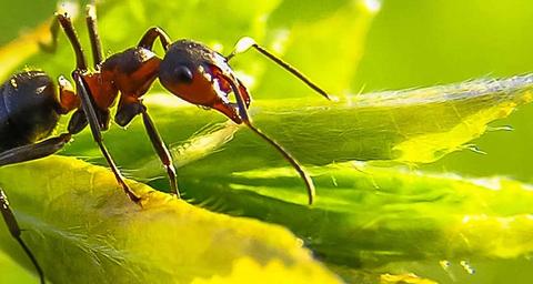
<svg viewBox="0 0 533 284"><path fill-rule="evenodd" d="M533 70L533 3L529 0L143 2L101 2L100 28L108 54L137 43L143 30L158 24L173 38L220 44L224 53L239 37L253 36L259 42L275 47L276 41L283 41L284 32L291 30L294 42L282 50L284 58L338 94L512 77ZM376 11L375 18L353 8L354 2ZM0 44L42 23L57 9L52 1L2 1L1 7ZM103 17L113 13L128 17ZM351 60L344 61L345 58ZM64 48L53 55L28 58L20 68L24 65L40 67L58 75L69 73L73 61L70 49ZM243 55L235 67L260 78L251 84L257 100L271 95L266 91L269 84L275 83L280 90L302 90L298 83L278 81L280 73L254 54ZM521 108L493 125L511 125L512 132L494 131L474 141L486 154L464 150L420 168L471 176L499 174L533 182L532 119L533 105ZM1 263L0 282L23 282L21 276L7 278L10 274L3 273L3 267L8 266ZM436 264L430 266L435 267L428 276L453 280ZM531 274L522 273L533 267L531 262L516 261L503 266L506 268L497 271L494 267L501 267L499 264L485 262L475 267L477 275L481 274L476 278L469 278L471 275L462 270L454 277L459 283L511 283L505 281L510 276L512 283L530 282ZM492 273L484 274L486 271Z"/></svg>

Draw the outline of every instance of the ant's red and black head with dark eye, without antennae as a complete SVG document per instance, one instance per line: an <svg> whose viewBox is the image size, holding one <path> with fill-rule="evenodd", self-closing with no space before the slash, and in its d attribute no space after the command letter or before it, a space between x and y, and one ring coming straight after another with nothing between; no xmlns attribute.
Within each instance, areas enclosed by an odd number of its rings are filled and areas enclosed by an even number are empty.
<svg viewBox="0 0 533 284"><path fill-rule="evenodd" d="M215 109L235 123L242 120L228 98L232 84L244 91L247 104L250 102L248 91L234 79L225 58L190 40L180 40L169 47L159 69L159 80L174 95L197 105Z"/></svg>

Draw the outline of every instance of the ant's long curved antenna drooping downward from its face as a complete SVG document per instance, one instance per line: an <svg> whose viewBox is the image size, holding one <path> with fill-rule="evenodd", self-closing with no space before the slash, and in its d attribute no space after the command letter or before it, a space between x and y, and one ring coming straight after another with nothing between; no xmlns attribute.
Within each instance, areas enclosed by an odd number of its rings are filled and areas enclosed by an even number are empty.
<svg viewBox="0 0 533 284"><path fill-rule="evenodd" d="M294 168L294 170L296 170L298 174L300 175L300 178L305 183L305 189L308 190L308 202L309 202L310 205L313 204L314 195L315 195L315 189L314 189L313 181L311 180L309 174L305 172L305 170L303 170L302 165L300 165L300 163L296 161L296 159L294 159L289 152L286 152L286 150L283 149L282 145L280 145L278 142L275 142L274 140L269 138L260 129L255 128L252 124L252 121L250 119L250 114L248 113L245 98L241 93L241 89L237 85L237 83L235 83L237 80L233 79L233 78L229 78L224 74L222 74L222 75L224 77L227 82L231 85L231 89L232 89L233 93L235 94L237 105L238 105L238 109L239 109L239 115L241 116L242 122L244 124L247 124L247 126L250 130L252 130L255 134L261 136L269 144L271 144L273 148L275 148L275 150L278 150L278 152L280 152L283 155L283 158L292 165L292 168Z"/></svg>

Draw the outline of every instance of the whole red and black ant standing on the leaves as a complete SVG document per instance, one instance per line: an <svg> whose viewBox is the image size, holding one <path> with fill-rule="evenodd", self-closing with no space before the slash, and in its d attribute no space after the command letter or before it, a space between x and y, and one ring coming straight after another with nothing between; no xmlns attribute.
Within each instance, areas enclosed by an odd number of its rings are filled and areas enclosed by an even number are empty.
<svg viewBox="0 0 533 284"><path fill-rule="evenodd" d="M247 124L254 133L273 145L298 171L305 182L309 203L313 202L314 185L302 166L280 144L252 124L248 114L251 102L250 93L235 77L228 61L234 55L254 48L329 99L324 91L298 70L250 38L240 40L235 50L230 55L223 57L194 41L179 40L171 43L170 38L160 28L148 30L137 47L103 60L97 32L94 7L91 4L88 6L87 24L94 70L90 72L68 14L57 14L57 19L74 49L77 67L72 72L72 78L77 92L72 91L68 80L60 77L58 95L50 77L42 71L34 70L14 74L0 85L0 136L2 138L0 140L0 166L51 155L63 148L72 134L80 132L89 124L94 141L100 146L118 182L128 196L139 203L140 197L123 181L101 135L101 131L109 128L109 109L120 92L115 122L125 126L135 115L141 114L150 141L167 169L171 190L177 196L180 196L172 158L141 99L153 81L159 78L162 85L171 93L193 104L215 109L238 124ZM153 43L158 38L165 51L163 59L152 52ZM237 103L230 102L229 94L231 92L235 95ZM69 121L68 133L49 138L58 125L60 115L72 110L76 112ZM40 282L44 283L42 268L21 239L21 229L2 189L0 189L0 212L10 234L31 260Z"/></svg>

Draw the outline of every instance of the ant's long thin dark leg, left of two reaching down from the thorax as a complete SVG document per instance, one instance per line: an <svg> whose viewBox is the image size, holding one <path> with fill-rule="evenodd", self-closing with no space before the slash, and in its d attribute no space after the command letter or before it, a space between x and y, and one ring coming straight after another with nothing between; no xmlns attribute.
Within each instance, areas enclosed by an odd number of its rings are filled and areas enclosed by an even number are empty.
<svg viewBox="0 0 533 284"><path fill-rule="evenodd" d="M100 148L100 151L102 152L103 156L105 158L105 161L108 162L109 166L111 168L111 171L114 174L114 178L119 182L119 184L122 186L124 190L125 194L128 197L130 197L131 201L135 202L139 204L141 199L137 196L137 194L131 191L131 189L128 186L128 184L124 182L124 178L120 173L119 169L117 168L117 164L114 163L113 159L109 154L108 149L103 144L103 139L102 139L102 133L100 129L100 123L97 118L97 112L93 106L92 102L92 97L89 95L89 88L86 87L86 82L83 81L82 77L79 74L79 70L76 70L72 72L72 78L76 81L76 89L78 90L78 95L80 95L81 99L81 108L83 109L83 112L86 113L86 118L89 122L89 125L91 128L91 133L92 138L94 139L94 142L97 142L98 146Z"/></svg>

